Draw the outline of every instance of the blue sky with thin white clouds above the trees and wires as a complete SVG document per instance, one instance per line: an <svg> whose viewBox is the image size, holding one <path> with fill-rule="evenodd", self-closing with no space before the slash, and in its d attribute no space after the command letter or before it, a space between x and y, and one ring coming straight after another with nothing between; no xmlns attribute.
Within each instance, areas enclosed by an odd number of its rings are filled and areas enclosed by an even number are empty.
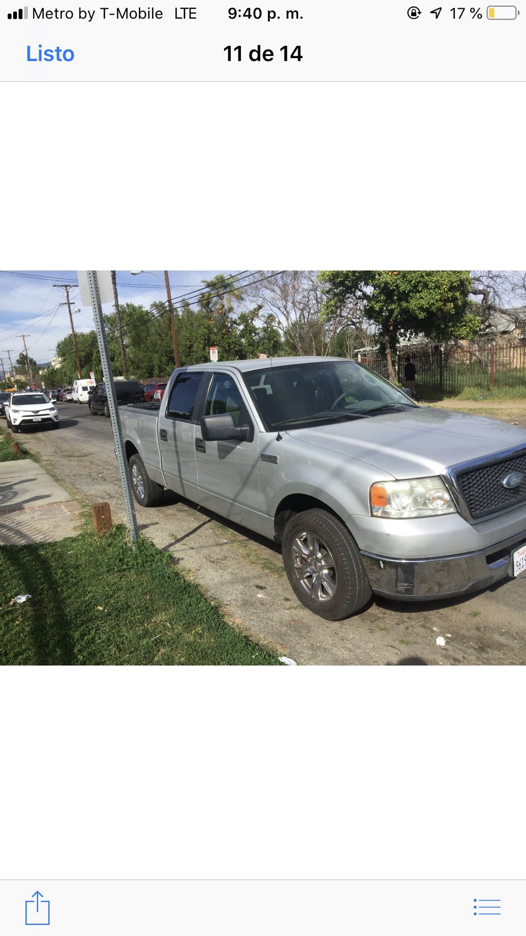
<svg viewBox="0 0 526 936"><path fill-rule="evenodd" d="M201 280L210 280L218 272L231 271L168 271L174 304L178 297L199 288ZM160 279L158 278L160 277ZM166 300L164 271L143 271L131 276L129 271L117 271L117 291L121 302L134 302L149 309L155 300ZM23 351L22 338L25 334L27 351L37 364L44 364L55 355L57 342L71 333L64 289L53 284L78 282L77 272L55 271L0 271L0 358L9 370L7 349L14 364ZM74 286L69 290L73 326L76 332L94 328L91 306L80 305L80 290ZM75 310L79 309L79 312ZM103 306L105 313L112 313L112 304ZM0 365L1 367L1 365Z"/></svg>

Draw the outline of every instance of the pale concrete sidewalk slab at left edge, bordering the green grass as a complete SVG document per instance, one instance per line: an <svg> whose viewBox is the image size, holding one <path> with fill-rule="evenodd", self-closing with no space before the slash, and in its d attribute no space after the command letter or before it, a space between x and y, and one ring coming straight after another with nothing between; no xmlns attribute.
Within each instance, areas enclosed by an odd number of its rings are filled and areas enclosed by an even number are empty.
<svg viewBox="0 0 526 936"><path fill-rule="evenodd" d="M0 544L52 543L76 536L79 510L78 501L36 461L0 463Z"/></svg>

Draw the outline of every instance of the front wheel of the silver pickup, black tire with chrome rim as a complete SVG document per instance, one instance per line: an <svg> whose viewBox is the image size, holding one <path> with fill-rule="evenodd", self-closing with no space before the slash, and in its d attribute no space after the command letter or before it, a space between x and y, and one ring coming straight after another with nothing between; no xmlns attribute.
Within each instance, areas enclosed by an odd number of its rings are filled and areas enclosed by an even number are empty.
<svg viewBox="0 0 526 936"><path fill-rule="evenodd" d="M293 592L320 618L350 618L371 598L358 547L343 523L328 511L315 507L291 517L285 526L282 551ZM300 577L298 570L307 566L313 574Z"/></svg>

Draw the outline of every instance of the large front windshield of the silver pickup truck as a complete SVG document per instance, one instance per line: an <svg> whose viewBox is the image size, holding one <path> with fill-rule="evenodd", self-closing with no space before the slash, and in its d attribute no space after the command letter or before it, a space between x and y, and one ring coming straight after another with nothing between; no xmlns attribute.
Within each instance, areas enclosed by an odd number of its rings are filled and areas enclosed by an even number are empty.
<svg viewBox="0 0 526 936"><path fill-rule="evenodd" d="M383 377L350 360L269 365L243 377L269 429L416 405Z"/></svg>

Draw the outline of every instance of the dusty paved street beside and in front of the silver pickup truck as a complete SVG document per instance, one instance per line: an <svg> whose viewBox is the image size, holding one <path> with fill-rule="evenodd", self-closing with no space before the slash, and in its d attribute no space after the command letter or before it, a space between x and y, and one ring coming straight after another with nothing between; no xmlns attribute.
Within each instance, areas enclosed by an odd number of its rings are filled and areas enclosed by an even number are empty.
<svg viewBox="0 0 526 936"><path fill-rule="evenodd" d="M61 429L23 433L23 444L70 492L109 501L124 520L110 420L59 403ZM526 575L468 598L399 604L375 599L356 618L324 622L288 586L279 549L167 492L138 507L141 531L250 634L303 665L526 664ZM436 645L437 636L446 646Z"/></svg>

